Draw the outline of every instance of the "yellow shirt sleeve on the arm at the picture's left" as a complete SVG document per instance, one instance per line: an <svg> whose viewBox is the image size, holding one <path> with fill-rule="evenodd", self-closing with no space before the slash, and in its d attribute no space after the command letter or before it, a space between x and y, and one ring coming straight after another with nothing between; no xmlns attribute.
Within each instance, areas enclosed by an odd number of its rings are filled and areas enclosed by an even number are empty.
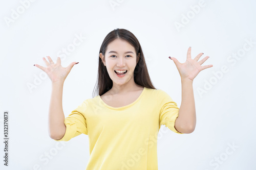
<svg viewBox="0 0 256 170"><path fill-rule="evenodd" d="M81 133L88 135L86 117L84 117L84 110L86 105L84 102L73 110L68 117L65 118L66 125L65 135L61 139L54 139L56 141L69 141L71 138L80 135Z"/></svg>

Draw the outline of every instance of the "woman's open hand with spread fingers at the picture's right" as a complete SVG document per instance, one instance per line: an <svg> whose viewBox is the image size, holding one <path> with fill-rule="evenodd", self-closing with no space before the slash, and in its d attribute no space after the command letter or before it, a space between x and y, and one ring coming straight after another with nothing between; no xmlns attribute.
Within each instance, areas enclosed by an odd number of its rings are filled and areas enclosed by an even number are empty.
<svg viewBox="0 0 256 170"><path fill-rule="evenodd" d="M199 58L203 55L203 53L200 53L199 55L197 55L197 57L195 57L195 59L191 59L191 47L188 48L187 50L187 60L185 63L180 63L176 58L172 57L170 59L172 59L179 71L180 77L181 79L190 79L190 80L194 80L195 77L199 74L200 71L202 71L205 68L209 68L212 67L213 65L203 65L201 66L201 64L203 64L208 58L209 56L206 56L205 58L203 58L202 60L199 60Z"/></svg>

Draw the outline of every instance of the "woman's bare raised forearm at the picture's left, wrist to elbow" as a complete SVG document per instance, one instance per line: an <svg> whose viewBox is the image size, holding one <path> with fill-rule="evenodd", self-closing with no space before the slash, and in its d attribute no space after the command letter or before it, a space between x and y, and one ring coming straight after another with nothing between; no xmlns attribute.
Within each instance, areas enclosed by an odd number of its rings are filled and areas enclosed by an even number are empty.
<svg viewBox="0 0 256 170"><path fill-rule="evenodd" d="M65 115L62 108L63 82L52 83L52 93L49 106L48 128L50 137L60 139L66 132Z"/></svg>

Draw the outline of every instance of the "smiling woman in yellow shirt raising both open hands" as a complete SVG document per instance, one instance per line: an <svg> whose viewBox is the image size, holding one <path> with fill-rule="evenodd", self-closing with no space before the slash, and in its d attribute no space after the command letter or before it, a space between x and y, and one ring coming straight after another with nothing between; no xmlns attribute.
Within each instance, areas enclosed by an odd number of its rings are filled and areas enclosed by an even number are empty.
<svg viewBox="0 0 256 170"><path fill-rule="evenodd" d="M182 83L180 108L163 90L156 89L148 75L137 38L128 30L111 31L99 52L97 96L84 100L65 118L62 110L63 83L72 62L63 68L43 58L47 67L35 64L52 81L49 134L68 141L81 133L89 136L90 159L86 169L158 169L157 135L161 125L178 134L191 133L196 126L193 80L212 65L201 66L200 53L185 63L172 59Z"/></svg>

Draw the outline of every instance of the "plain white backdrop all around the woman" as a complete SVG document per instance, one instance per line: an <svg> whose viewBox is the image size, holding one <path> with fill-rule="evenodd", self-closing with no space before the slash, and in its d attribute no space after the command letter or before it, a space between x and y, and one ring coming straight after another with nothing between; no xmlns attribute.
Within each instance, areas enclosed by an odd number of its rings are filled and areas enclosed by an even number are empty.
<svg viewBox="0 0 256 170"><path fill-rule="evenodd" d="M178 106L180 76L168 57L183 63L191 46L192 58L204 53L200 60L210 58L202 65L214 65L194 79L195 131L180 135L161 127L159 169L256 169L255 1L28 2L0 5L0 136L3 141L3 113L9 111L10 138L8 167L3 165L0 142L1 169L86 168L87 135L62 144L49 137L51 81L33 65L45 66L42 57L56 61L59 55L65 57L64 67L79 62L64 84L63 111L68 116L92 98L100 45L116 28L135 34L154 86ZM79 35L84 37L80 45L65 55L62 49L71 47Z"/></svg>

